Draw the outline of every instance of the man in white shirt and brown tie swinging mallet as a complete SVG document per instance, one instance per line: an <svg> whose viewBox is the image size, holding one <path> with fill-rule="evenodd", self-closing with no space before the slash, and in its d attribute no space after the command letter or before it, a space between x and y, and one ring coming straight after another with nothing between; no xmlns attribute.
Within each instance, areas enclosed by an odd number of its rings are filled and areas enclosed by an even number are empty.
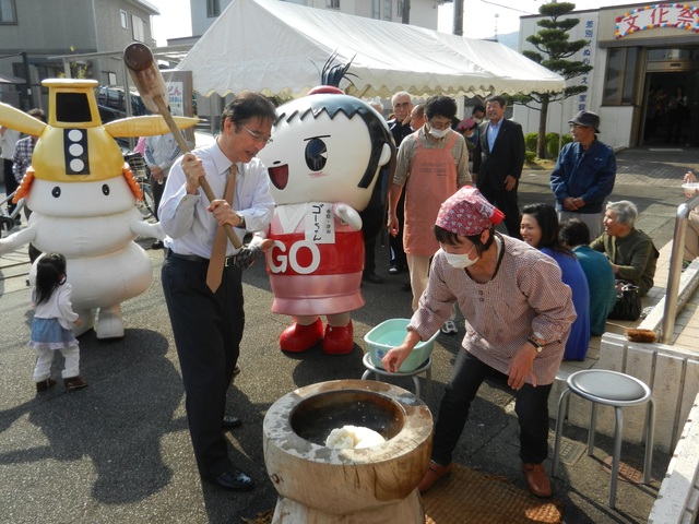
<svg viewBox="0 0 699 524"><path fill-rule="evenodd" d="M274 199L268 170L257 155L270 142L275 121L276 110L268 98L249 92L238 95L223 111L215 142L175 162L158 210L167 234L163 291L197 466L202 479L234 491L250 490L253 483L234 466L224 436L242 424L225 412L245 311L241 267L230 263L239 250L221 226L229 225L242 240L246 231L261 231L270 224ZM202 178L215 195L211 202L200 187Z"/></svg>

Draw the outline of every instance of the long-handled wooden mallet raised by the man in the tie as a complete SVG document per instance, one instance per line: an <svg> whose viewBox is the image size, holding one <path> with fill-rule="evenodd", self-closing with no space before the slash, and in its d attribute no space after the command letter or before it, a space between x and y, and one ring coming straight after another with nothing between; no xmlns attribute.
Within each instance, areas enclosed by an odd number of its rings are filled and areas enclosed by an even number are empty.
<svg viewBox="0 0 699 524"><path fill-rule="evenodd" d="M130 44L123 50L123 62L127 64L127 68L129 68L131 80L139 90L145 107L151 112L161 115L165 119L167 127L173 133L173 136L175 136L182 153L190 153L191 150L189 145L187 145L187 141L180 133L170 110L167 108L167 87L165 86L163 74L161 70L157 69L157 64L153 59L153 53L149 46L139 41ZM199 186L209 199L209 202L216 200L216 195L214 195L214 192L211 190L211 186L209 186L205 177L199 179ZM242 245L233 230L233 227L230 227L229 224L224 224L223 227L233 247L236 249L241 248Z"/></svg>

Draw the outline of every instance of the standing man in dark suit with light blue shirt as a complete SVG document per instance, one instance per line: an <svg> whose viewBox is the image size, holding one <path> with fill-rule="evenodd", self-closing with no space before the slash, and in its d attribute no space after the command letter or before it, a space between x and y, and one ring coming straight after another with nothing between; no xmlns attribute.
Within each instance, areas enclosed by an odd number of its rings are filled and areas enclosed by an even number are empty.
<svg viewBox="0 0 699 524"><path fill-rule="evenodd" d="M505 213L508 235L521 239L517 188L524 165L524 133L519 123L506 120L507 103L501 96L488 97L485 109L488 121L478 126L473 153L476 187Z"/></svg>

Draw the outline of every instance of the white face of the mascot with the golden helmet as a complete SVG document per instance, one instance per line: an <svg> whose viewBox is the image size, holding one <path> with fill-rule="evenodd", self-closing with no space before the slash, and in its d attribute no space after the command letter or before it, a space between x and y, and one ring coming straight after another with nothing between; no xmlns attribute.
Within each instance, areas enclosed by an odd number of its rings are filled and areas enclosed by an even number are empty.
<svg viewBox="0 0 699 524"><path fill-rule="evenodd" d="M49 217L104 216L129 211L135 196L123 177L91 182L35 179L27 205Z"/></svg>

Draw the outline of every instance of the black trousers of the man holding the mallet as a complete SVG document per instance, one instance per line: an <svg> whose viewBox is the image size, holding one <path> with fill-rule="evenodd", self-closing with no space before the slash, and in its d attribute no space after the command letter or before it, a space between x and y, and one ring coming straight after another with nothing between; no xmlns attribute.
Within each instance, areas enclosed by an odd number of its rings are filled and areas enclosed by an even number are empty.
<svg viewBox="0 0 699 524"><path fill-rule="evenodd" d="M221 424L226 391L240 353L245 326L240 269L224 269L215 294L206 286L208 261L169 254L163 263L165 301L185 383L187 420L203 478L230 469Z"/></svg>

